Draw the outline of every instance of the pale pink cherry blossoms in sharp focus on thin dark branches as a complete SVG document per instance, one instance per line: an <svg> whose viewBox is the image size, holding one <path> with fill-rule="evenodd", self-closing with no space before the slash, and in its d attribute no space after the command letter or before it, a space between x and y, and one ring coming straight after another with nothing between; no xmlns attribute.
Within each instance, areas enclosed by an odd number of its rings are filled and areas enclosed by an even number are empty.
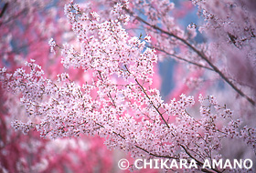
<svg viewBox="0 0 256 173"><path fill-rule="evenodd" d="M194 1L200 6L205 5L203 2ZM236 118L216 97L199 95L198 104L194 97L185 94L169 102L162 99L160 91L152 86L157 55L147 45L152 43L151 35L159 38L155 44L158 50L177 58L192 55L190 59L181 59L216 72L253 105L253 100L213 64L215 61L208 57L208 51L203 51L206 46L201 46L201 51L200 46L190 44L188 40L195 35L187 35L168 17L174 10L173 4L167 1L157 4L153 0L136 6L144 7L150 23L134 15L136 10L132 11L129 5L134 2L116 2L109 10L112 14L109 20L72 1L65 6L65 15L79 46L58 44L63 56L61 63L91 75L82 85L72 81L69 77L72 74L68 73L60 73L56 81L48 79L34 60L26 63L27 69L18 68L13 74L5 67L0 69L3 86L21 96L20 103L27 113L28 120L16 119L13 127L25 134L36 129L41 137L54 139L98 135L105 139L108 148L122 149L133 158L194 159L197 170L205 172L225 171L203 168L205 160L225 157L221 154L225 140L241 139L255 153L256 128L244 126L242 117ZM203 12L207 20L214 18L208 11ZM147 25L149 35L132 36L123 28L129 24L130 15ZM163 29L157 26L161 16ZM165 43L168 44L164 47ZM53 49L56 42L51 39L49 45ZM174 51L166 52L166 47ZM206 64L197 63L197 59ZM191 80L192 83L194 79Z"/></svg>

